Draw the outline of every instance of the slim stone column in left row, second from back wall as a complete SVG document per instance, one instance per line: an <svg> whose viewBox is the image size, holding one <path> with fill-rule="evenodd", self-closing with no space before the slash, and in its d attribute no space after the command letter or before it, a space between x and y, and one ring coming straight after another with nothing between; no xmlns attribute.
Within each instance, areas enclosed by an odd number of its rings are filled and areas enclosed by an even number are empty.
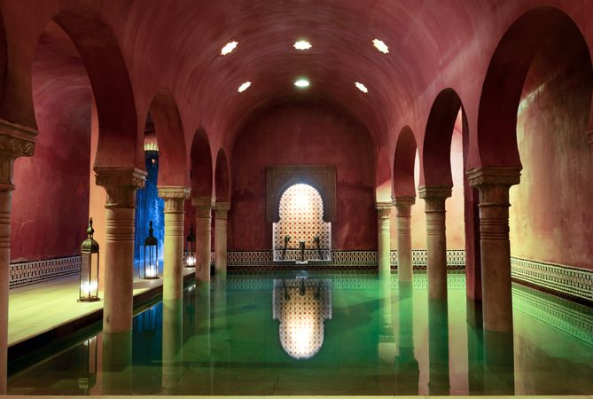
<svg viewBox="0 0 593 399"><path fill-rule="evenodd" d="M212 207L210 197L192 198L196 207L196 281L210 281L210 243L212 233Z"/></svg>

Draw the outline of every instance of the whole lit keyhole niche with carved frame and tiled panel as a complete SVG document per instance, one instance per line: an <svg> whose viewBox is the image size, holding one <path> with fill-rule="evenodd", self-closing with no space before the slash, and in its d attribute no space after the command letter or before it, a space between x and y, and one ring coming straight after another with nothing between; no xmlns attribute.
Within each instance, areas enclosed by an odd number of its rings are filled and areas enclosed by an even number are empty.
<svg viewBox="0 0 593 399"><path fill-rule="evenodd" d="M329 165L266 168L266 215L272 223L274 261L332 260L332 223L336 222L336 168ZM286 251L285 236L289 235ZM319 237L321 252L315 237Z"/></svg>

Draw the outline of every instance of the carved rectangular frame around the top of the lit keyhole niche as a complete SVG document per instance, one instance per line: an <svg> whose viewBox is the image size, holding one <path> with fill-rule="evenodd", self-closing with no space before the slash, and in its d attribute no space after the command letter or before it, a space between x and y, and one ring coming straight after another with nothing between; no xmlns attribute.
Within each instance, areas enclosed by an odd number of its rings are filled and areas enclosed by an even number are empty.
<svg viewBox="0 0 593 399"><path fill-rule="evenodd" d="M278 222L282 194L293 184L309 184L324 200L324 221L336 221L336 167L273 166L266 168L266 217L268 223Z"/></svg>

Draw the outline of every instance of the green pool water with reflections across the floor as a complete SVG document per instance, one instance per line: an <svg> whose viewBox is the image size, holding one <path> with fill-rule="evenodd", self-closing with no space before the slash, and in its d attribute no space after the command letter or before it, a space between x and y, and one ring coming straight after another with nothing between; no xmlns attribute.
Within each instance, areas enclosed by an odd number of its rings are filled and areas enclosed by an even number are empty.
<svg viewBox="0 0 593 399"><path fill-rule="evenodd" d="M276 288L274 279L277 278ZM283 283L284 279L284 283ZM229 275L11 376L23 395L568 395L593 393L593 309L513 286L514 335L469 319L426 276ZM276 319L274 318L276 317Z"/></svg>

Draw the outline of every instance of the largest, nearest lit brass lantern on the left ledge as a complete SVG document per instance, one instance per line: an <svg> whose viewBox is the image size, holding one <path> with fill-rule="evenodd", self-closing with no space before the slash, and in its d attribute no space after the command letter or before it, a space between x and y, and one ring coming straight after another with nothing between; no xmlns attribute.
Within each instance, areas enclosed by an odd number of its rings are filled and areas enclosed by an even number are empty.
<svg viewBox="0 0 593 399"><path fill-rule="evenodd" d="M93 219L89 219L87 234L89 237L81 245L81 285L78 301L98 301L98 242L93 239Z"/></svg>

